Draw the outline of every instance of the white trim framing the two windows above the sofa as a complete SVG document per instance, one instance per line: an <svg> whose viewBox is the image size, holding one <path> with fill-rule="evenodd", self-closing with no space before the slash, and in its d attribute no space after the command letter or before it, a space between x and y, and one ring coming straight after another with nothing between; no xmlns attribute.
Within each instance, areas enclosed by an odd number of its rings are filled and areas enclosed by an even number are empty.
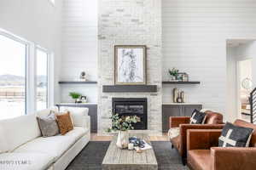
<svg viewBox="0 0 256 170"><path fill-rule="evenodd" d="M25 115L34 114L37 111L37 49L47 53L47 108L54 105L54 77L55 77L55 65L54 65L54 53L43 48L36 42L30 42L22 37L18 37L15 34L5 31L0 28L0 35L8 37L16 42L20 42L26 46L26 72L25 72Z"/></svg>

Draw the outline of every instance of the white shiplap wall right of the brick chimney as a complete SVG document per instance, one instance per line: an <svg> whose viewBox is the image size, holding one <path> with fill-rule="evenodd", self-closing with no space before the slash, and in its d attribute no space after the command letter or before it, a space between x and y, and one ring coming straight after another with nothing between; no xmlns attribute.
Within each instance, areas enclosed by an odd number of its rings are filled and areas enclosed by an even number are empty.
<svg viewBox="0 0 256 170"><path fill-rule="evenodd" d="M255 0L162 0L163 80L168 68L189 73L201 85L178 86L188 102L224 112L226 120L226 40L256 37ZM163 102L172 88L163 87Z"/></svg>

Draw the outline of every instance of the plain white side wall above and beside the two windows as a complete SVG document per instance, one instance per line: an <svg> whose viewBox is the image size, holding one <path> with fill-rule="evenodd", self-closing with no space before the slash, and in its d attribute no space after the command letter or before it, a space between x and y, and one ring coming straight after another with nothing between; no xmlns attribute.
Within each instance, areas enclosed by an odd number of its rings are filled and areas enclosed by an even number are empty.
<svg viewBox="0 0 256 170"><path fill-rule="evenodd" d="M55 54L55 63L61 57L61 0L55 6L48 0L1 0L0 28L28 41L48 48ZM55 65L55 102L57 102L59 65Z"/></svg>

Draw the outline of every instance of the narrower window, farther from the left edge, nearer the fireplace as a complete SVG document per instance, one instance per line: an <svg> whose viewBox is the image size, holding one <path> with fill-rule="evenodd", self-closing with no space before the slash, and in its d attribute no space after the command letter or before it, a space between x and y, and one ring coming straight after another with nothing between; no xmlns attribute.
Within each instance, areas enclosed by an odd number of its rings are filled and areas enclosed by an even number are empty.
<svg viewBox="0 0 256 170"><path fill-rule="evenodd" d="M48 107L48 56L49 54L42 48L37 48L37 110Z"/></svg>

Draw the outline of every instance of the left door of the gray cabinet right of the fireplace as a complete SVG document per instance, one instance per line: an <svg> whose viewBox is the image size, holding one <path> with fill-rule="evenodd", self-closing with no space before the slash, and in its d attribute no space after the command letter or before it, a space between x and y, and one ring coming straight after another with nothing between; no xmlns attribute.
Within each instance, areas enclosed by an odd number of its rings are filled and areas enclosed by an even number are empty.
<svg viewBox="0 0 256 170"><path fill-rule="evenodd" d="M162 105L162 131L164 133L169 130L169 117L170 116L181 116L180 105Z"/></svg>

